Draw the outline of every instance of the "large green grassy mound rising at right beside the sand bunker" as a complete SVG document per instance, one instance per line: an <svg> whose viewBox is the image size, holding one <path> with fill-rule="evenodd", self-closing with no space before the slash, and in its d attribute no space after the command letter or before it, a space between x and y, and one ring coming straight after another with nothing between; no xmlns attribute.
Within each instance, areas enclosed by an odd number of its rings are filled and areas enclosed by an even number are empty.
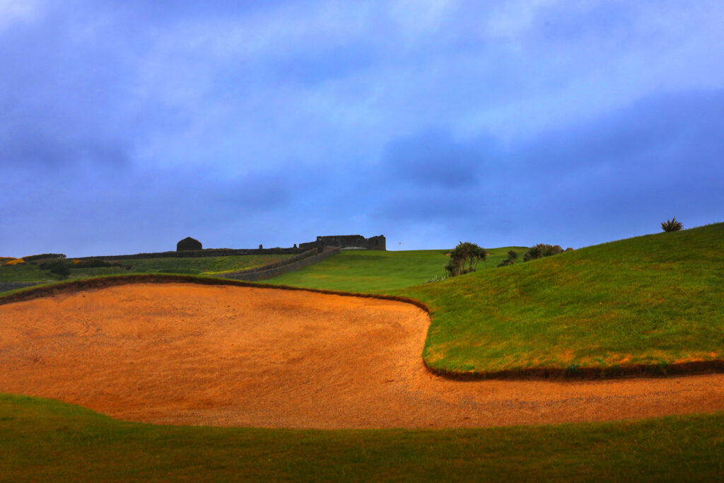
<svg viewBox="0 0 724 483"><path fill-rule="evenodd" d="M448 371L724 358L724 223L401 290L432 309L426 363Z"/></svg>

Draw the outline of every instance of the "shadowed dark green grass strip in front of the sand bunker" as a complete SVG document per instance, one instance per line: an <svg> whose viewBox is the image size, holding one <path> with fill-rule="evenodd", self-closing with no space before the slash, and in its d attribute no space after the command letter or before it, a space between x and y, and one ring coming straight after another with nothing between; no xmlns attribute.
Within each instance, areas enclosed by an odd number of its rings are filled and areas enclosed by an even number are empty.
<svg viewBox="0 0 724 483"><path fill-rule="evenodd" d="M724 478L724 414L445 430L153 426L0 395L0 479L655 480Z"/></svg>

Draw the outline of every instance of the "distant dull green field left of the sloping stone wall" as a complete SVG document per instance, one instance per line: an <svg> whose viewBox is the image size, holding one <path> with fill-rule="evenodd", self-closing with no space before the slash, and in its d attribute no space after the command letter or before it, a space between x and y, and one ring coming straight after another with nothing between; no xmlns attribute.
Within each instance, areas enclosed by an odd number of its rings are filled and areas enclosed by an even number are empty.
<svg viewBox="0 0 724 483"><path fill-rule="evenodd" d="M233 255L189 258L130 259L110 261L124 266L71 269L70 278L98 277L101 275L130 273L178 273L178 274L220 274L273 264L292 255ZM71 259L72 260L72 259ZM51 282L57 280L48 270L41 270L37 264L25 263L0 266L0 282Z"/></svg>

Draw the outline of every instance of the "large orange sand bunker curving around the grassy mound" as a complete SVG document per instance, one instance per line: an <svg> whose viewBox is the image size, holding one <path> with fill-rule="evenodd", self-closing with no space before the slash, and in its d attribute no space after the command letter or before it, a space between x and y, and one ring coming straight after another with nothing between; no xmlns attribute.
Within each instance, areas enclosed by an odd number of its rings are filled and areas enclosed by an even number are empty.
<svg viewBox="0 0 724 483"><path fill-rule="evenodd" d="M0 392L110 416L255 427L481 427L724 409L724 376L455 382L407 303L122 285L0 306Z"/></svg>

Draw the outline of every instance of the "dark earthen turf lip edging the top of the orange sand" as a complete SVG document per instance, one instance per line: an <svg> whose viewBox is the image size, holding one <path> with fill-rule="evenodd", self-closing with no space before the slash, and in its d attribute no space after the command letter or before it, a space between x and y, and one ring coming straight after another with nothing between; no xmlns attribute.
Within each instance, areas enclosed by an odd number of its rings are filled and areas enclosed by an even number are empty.
<svg viewBox="0 0 724 483"><path fill-rule="evenodd" d="M63 293L75 293L81 290L90 290L117 285L138 284L138 283L194 283L198 285L230 285L237 287L258 287L276 290L299 290L311 293L323 293L328 295L342 295L359 298L377 298L387 301L398 301L410 303L421 308L431 316L430 309L426 303L414 298L399 295L380 295L374 293L343 292L340 290L325 290L306 287L294 287L290 285L271 285L257 282L245 282L242 280L231 280L216 277L198 277L195 275L182 274L128 274L109 275L106 277L92 277L88 279L69 280L54 282L46 285L26 287L0 295L0 305L6 303L22 302L34 298L49 297ZM632 364L615 365L607 367L578 367L567 368L546 368L531 367L523 369L507 369L502 371L452 371L444 368L437 368L427 364L423 358L425 368L445 379L458 381L476 381L481 379L617 379L623 377L667 377L673 375L723 373L724 360L710 361L686 361L673 364Z"/></svg>

